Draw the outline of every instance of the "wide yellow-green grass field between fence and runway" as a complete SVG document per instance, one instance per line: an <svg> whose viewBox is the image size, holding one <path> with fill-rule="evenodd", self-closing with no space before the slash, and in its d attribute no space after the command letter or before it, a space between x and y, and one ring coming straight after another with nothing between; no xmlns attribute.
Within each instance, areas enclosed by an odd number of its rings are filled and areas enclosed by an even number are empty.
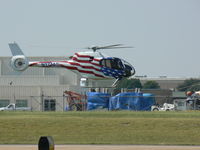
<svg viewBox="0 0 200 150"><path fill-rule="evenodd" d="M200 145L200 112L0 112L0 144Z"/></svg>

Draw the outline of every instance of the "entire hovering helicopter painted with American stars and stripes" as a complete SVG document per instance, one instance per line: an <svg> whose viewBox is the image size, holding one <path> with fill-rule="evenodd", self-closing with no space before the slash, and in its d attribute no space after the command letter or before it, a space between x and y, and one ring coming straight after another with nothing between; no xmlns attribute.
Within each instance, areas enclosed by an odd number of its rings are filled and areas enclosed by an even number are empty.
<svg viewBox="0 0 200 150"><path fill-rule="evenodd" d="M17 43L9 43L12 52L11 67L15 71L24 71L28 67L61 67L69 69L82 78L93 80L116 79L112 86L124 77L135 74L134 67L117 57L107 57L100 49L131 48L122 44L87 47L92 51L77 52L69 60L62 61L29 61Z"/></svg>

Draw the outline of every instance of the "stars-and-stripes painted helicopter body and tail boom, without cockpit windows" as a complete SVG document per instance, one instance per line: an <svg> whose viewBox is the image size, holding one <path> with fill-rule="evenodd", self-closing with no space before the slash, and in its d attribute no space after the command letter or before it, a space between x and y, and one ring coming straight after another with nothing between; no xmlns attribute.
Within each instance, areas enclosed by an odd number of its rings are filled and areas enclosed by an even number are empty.
<svg viewBox="0 0 200 150"><path fill-rule="evenodd" d="M82 77L92 79L112 79L117 74L108 74L106 68L100 65L102 57L99 52L79 52L68 61L44 61L29 62L32 67L63 67L75 73L79 73ZM109 69L107 69L109 72ZM113 72L114 70L112 70ZM121 72L120 72L121 74ZM120 75L119 74L119 75ZM118 76L119 76L118 75Z"/></svg>

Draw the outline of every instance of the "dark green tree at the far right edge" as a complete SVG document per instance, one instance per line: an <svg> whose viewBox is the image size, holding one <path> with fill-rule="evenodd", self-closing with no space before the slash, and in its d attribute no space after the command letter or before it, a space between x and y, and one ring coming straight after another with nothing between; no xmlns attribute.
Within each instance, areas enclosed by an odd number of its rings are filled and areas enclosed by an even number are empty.
<svg viewBox="0 0 200 150"><path fill-rule="evenodd" d="M188 79L180 84L177 89L179 91L199 91L200 90L200 79Z"/></svg>

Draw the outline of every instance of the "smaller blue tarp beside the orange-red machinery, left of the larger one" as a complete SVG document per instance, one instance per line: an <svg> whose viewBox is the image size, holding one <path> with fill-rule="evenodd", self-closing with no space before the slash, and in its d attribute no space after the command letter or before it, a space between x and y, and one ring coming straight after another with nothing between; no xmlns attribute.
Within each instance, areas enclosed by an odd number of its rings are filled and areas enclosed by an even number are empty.
<svg viewBox="0 0 200 150"><path fill-rule="evenodd" d="M111 94L100 92L87 93L87 110L108 109Z"/></svg>

